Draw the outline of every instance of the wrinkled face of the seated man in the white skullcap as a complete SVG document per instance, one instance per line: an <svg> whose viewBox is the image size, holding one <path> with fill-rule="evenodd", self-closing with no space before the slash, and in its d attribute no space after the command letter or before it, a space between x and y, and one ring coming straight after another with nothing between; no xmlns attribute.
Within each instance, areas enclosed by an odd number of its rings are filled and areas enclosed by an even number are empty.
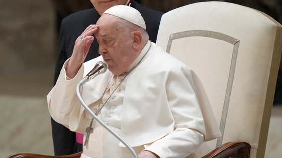
<svg viewBox="0 0 282 158"><path fill-rule="evenodd" d="M123 74L136 58L132 48L133 35L125 32L113 15L103 14L97 25L99 29L95 38L99 43L99 54L113 74Z"/></svg>

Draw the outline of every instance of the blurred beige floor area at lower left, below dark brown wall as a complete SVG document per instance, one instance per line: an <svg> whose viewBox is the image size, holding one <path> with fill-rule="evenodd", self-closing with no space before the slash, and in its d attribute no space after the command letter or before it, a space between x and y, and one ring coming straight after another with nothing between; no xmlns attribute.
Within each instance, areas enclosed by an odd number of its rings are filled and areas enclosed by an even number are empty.
<svg viewBox="0 0 282 158"><path fill-rule="evenodd" d="M0 79L1 158L22 152L53 155L45 97L52 81L48 75L48 80L40 79L46 75L45 72Z"/></svg>

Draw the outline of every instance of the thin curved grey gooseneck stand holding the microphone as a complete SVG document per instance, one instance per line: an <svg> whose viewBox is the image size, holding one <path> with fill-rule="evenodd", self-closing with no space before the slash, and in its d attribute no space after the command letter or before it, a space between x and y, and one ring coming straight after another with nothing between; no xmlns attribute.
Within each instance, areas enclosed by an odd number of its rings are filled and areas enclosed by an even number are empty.
<svg viewBox="0 0 282 158"><path fill-rule="evenodd" d="M114 132L109 126L107 126L100 118L98 118L98 116L96 116L93 111L86 105L86 103L84 102L81 94L80 94L80 88L83 84L85 84L89 79L88 78L83 78L80 80L80 82L78 82L77 86L76 86L76 94L77 97L79 99L79 101L81 102L82 106L85 108L85 110L88 111L88 113L90 113L90 115L102 126L104 127L107 131L109 131L113 136L115 136L120 142L122 142L132 153L132 155L134 156L134 158L138 158L137 154L135 153L135 151L133 150L133 148L121 137L119 136L116 132Z"/></svg>

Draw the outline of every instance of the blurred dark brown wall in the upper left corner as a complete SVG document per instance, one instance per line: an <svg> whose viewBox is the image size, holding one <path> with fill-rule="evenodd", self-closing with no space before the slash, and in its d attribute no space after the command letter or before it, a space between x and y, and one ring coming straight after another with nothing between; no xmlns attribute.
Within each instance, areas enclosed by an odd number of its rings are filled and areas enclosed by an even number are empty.
<svg viewBox="0 0 282 158"><path fill-rule="evenodd" d="M54 63L54 11L49 0L0 1L0 75Z"/></svg>

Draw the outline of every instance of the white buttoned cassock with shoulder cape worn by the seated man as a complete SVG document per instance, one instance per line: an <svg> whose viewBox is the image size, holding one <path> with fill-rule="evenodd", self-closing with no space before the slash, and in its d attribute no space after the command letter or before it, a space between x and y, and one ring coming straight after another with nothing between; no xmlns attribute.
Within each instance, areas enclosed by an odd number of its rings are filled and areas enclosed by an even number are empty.
<svg viewBox="0 0 282 158"><path fill-rule="evenodd" d="M72 131L84 133L90 124L92 118L76 96L76 85L101 60L100 56L85 62L73 79L63 68L47 95L52 118ZM107 70L85 83L81 93L94 112L109 98L99 118L137 153L149 150L161 158L185 158L203 141L221 136L201 81L187 65L148 41L127 72L112 76ZM133 157L98 123L93 124L83 158Z"/></svg>

